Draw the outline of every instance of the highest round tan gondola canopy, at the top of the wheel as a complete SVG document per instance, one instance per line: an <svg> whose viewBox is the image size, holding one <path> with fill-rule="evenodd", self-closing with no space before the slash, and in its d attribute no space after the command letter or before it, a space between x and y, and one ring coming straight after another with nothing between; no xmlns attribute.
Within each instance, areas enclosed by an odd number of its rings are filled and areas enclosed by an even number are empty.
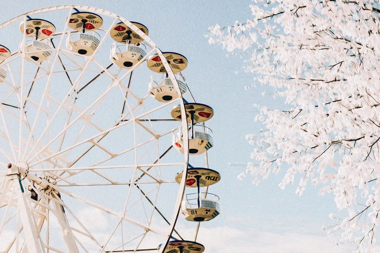
<svg viewBox="0 0 380 253"><path fill-rule="evenodd" d="M75 12L70 15L68 26L74 30L83 29L83 22L85 21L85 30L92 31L99 29L103 24L103 19L91 12Z"/></svg>

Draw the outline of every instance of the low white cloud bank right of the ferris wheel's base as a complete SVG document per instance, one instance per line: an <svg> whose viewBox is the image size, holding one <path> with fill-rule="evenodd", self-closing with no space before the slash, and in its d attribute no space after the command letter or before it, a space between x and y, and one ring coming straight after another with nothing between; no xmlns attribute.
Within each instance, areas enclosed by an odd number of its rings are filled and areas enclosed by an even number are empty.
<svg viewBox="0 0 380 253"><path fill-rule="evenodd" d="M216 252L281 252L281 253L339 253L350 252L355 245L336 245L326 236L297 233L271 233L240 230L233 227L201 228L198 241L205 253Z"/></svg>

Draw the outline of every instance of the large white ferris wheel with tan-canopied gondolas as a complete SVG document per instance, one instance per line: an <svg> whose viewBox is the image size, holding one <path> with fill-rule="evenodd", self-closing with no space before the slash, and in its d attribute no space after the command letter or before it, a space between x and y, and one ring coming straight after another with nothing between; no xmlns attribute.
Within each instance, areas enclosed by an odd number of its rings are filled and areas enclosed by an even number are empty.
<svg viewBox="0 0 380 253"><path fill-rule="evenodd" d="M0 25L0 252L205 250L214 111L148 33L86 6Z"/></svg>

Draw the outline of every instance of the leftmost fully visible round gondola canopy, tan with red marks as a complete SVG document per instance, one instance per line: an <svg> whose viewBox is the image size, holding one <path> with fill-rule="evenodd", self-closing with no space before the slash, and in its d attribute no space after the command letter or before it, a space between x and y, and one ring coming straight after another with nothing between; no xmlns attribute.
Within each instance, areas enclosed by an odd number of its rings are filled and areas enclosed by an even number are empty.
<svg viewBox="0 0 380 253"><path fill-rule="evenodd" d="M26 37L34 37L38 31L38 39L41 40L53 35L55 26L44 19L29 19L21 23L20 31L25 32Z"/></svg>

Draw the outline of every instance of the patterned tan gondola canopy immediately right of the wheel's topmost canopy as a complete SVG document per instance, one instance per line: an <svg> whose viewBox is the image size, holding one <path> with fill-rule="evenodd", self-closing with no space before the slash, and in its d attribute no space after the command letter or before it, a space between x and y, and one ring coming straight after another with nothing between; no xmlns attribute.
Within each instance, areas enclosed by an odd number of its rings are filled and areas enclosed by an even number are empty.
<svg viewBox="0 0 380 253"><path fill-rule="evenodd" d="M146 26L137 22L131 22L131 23L134 24L143 33L148 35L149 31L148 31L148 28L146 28ZM124 44L127 43L127 40L129 41L129 44L138 44L144 40L140 35L138 35L135 31L133 31L123 22L117 23L109 31L109 35L114 40L118 41L119 43L124 43Z"/></svg>

